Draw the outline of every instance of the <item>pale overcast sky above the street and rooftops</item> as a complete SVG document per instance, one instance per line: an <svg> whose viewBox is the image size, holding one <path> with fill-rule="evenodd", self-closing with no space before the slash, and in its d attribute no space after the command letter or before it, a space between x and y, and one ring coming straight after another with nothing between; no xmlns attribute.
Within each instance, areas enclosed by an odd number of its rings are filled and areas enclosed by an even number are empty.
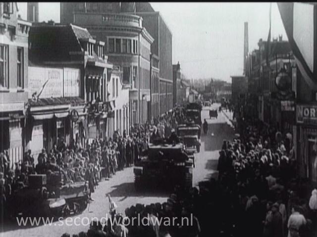
<svg viewBox="0 0 317 237"><path fill-rule="evenodd" d="M173 34L173 64L179 61L188 79L231 81L243 73L244 22L249 23L249 51L267 39L269 2L153 2ZM26 19L26 2L18 2ZM40 21L59 22L59 3L41 2ZM287 36L277 4L272 3L271 36Z"/></svg>

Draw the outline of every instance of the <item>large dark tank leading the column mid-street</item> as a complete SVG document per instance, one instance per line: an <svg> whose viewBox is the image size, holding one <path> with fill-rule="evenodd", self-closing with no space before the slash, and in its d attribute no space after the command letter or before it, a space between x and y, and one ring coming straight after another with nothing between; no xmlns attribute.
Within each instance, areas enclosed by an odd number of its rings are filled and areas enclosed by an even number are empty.
<svg viewBox="0 0 317 237"><path fill-rule="evenodd" d="M136 190L171 190L175 186L189 189L193 185L193 159L186 154L184 144L156 140L135 164L134 175Z"/></svg>

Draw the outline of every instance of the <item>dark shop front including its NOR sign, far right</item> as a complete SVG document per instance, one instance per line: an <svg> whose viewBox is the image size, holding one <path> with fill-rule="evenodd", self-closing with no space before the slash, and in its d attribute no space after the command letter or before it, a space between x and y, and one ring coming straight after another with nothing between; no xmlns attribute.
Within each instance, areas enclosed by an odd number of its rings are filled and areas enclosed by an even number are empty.
<svg viewBox="0 0 317 237"><path fill-rule="evenodd" d="M317 184L317 105L297 105L298 165L302 177Z"/></svg>

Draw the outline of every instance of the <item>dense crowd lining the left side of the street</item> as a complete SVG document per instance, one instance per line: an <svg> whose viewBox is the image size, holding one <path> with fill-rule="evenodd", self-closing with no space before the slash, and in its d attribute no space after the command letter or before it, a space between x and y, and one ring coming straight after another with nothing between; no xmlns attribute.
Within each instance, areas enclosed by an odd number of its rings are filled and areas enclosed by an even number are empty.
<svg viewBox="0 0 317 237"><path fill-rule="evenodd" d="M65 182L75 183L86 181L91 193L94 193L99 182L108 180L118 170L132 166L140 159L142 150L146 149L150 137L150 126L135 124L131 126L129 135L123 131L115 131L112 138L93 140L83 148L79 142L70 145L61 139L53 146L50 153L46 149L38 155L37 163L28 150L21 163L12 169L7 152L0 153L0 213L1 220L9 215L9 203L17 189L29 185L28 175L60 172Z"/></svg>

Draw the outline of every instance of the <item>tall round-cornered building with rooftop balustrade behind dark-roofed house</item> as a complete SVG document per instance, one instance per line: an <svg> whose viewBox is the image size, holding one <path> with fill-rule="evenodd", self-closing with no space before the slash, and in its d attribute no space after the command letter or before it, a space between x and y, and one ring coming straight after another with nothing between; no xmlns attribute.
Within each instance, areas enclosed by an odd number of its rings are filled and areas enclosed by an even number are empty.
<svg viewBox="0 0 317 237"><path fill-rule="evenodd" d="M100 10L97 12L100 13L90 11L90 4L94 7L95 3L61 3L64 7L68 4L75 7L68 13L72 14L72 22L87 27L95 39L106 42L105 51L109 61L123 72L123 83L130 85L130 124L145 123L149 117L148 102L151 100L150 54L154 39L143 26L142 18L120 13L115 3L110 4L113 8L107 8L108 3L99 5Z"/></svg>

